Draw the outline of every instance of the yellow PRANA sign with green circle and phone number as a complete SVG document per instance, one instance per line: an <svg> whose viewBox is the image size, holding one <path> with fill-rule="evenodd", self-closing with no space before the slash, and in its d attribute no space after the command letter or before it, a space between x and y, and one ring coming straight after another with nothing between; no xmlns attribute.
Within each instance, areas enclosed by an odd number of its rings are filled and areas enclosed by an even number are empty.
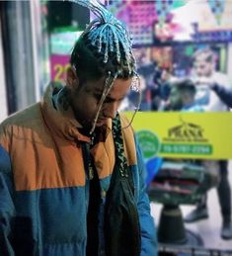
<svg viewBox="0 0 232 256"><path fill-rule="evenodd" d="M130 119L132 113L125 113ZM135 129L144 157L232 159L232 113L139 112Z"/></svg>

